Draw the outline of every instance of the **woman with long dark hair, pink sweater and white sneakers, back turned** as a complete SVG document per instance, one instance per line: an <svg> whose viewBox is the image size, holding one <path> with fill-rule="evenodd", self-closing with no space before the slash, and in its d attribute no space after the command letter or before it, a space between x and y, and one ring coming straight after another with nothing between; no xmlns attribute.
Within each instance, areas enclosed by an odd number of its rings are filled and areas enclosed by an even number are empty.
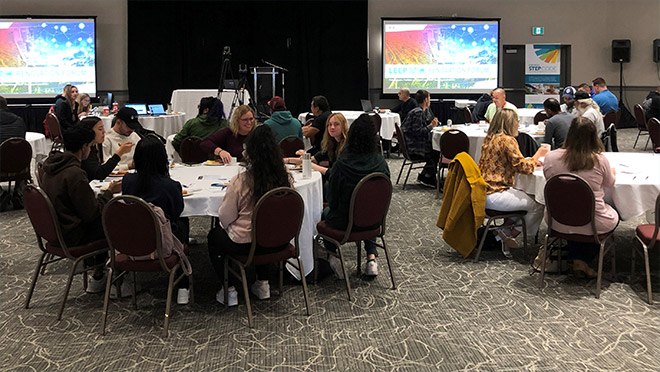
<svg viewBox="0 0 660 372"><path fill-rule="evenodd" d="M227 193L218 211L220 226L208 235L209 256L216 274L223 279L224 258L227 254L246 254L250 251L252 233L252 211L255 204L268 191L282 186L291 186L293 178L280 160L280 147L275 142L273 131L268 125L253 130L245 141L246 170L231 179ZM256 254L280 251L282 247L257 249ZM257 280L251 286L260 300L270 298L268 266L256 266ZM231 280L231 278L230 278ZM234 285L228 288L228 306L238 304ZM216 300L224 303L224 291L220 289Z"/></svg>

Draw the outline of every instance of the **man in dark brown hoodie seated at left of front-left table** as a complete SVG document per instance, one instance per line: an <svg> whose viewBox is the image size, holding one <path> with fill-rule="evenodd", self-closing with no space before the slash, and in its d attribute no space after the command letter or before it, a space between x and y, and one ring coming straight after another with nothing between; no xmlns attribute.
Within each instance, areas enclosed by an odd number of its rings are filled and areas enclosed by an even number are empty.
<svg viewBox="0 0 660 372"><path fill-rule="evenodd" d="M69 246L91 243L105 238L101 212L113 193L121 191L121 181L111 182L98 196L89 186L87 173L80 167L94 145L95 134L89 128L73 126L64 133L64 152L53 152L44 162L41 188L53 203L64 241ZM88 266L102 263L105 257L85 260ZM95 270L87 292L105 289L103 268Z"/></svg>

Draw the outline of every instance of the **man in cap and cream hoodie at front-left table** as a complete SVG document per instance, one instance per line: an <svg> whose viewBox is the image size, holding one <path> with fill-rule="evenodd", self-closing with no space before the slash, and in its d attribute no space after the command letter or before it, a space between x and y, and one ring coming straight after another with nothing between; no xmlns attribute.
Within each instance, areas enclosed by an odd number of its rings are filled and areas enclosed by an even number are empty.
<svg viewBox="0 0 660 372"><path fill-rule="evenodd" d="M141 129L142 126L137 119L138 114L134 108L124 107L117 112L117 115L112 119L112 128L105 134L105 140L103 141L104 159L110 159L122 143L128 141L137 144L140 141L140 136L135 131ZM135 147L122 156L115 170L133 168L134 152Z"/></svg>

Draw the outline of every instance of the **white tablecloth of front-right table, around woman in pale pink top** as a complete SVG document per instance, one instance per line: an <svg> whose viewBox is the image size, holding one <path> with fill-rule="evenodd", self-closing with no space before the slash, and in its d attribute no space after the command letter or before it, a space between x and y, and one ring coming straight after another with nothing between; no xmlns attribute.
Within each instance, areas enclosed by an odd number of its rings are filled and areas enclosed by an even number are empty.
<svg viewBox="0 0 660 372"><path fill-rule="evenodd" d="M655 208L655 199L660 194L660 154L606 152L604 155L616 170L614 187L605 188L605 201L619 212L621 219L629 220ZM542 168L533 174L516 175L514 187L545 204Z"/></svg>

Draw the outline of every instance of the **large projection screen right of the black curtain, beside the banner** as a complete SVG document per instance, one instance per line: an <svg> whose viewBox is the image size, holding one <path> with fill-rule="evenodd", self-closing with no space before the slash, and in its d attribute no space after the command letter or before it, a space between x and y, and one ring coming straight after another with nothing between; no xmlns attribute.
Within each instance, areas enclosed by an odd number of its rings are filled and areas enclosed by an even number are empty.
<svg viewBox="0 0 660 372"><path fill-rule="evenodd" d="M498 86L499 19L382 19L383 94L477 94Z"/></svg>

